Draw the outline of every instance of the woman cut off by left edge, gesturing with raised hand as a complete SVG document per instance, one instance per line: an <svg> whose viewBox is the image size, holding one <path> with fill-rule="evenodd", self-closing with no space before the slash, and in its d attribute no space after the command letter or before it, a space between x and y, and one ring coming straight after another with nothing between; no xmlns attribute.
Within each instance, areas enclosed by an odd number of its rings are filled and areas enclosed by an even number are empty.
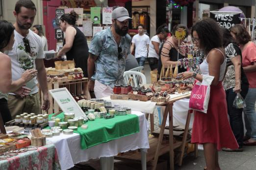
<svg viewBox="0 0 256 170"><path fill-rule="evenodd" d="M22 98L27 96L31 90L24 85L37 75L37 70L29 69L22 74L20 79L12 81L11 59L3 53L12 49L14 30L12 23L0 21L0 115L4 123L12 119L7 105L8 93L14 92Z"/></svg>

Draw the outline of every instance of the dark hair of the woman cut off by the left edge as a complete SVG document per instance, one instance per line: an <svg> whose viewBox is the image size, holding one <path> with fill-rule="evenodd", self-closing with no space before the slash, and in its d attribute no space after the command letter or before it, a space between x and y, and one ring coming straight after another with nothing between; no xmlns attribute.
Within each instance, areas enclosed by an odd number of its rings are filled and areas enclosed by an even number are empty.
<svg viewBox="0 0 256 170"><path fill-rule="evenodd" d="M0 20L0 49L8 45L14 30L15 27L11 22Z"/></svg>

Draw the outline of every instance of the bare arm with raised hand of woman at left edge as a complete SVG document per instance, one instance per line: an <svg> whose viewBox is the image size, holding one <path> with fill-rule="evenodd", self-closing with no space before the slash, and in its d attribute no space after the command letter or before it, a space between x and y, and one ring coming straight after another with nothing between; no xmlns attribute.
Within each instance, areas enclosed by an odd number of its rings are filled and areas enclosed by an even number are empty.
<svg viewBox="0 0 256 170"><path fill-rule="evenodd" d="M0 91L2 93L16 91L36 76L37 70L30 69L26 70L20 79L12 81L11 60L7 55L0 56Z"/></svg>

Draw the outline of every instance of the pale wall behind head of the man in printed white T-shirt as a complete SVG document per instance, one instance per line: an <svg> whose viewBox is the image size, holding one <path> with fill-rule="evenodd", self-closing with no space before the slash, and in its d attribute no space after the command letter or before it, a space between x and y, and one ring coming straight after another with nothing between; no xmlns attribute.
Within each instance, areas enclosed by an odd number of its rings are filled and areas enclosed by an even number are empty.
<svg viewBox="0 0 256 170"><path fill-rule="evenodd" d="M13 11L18 0L3 0L3 20L14 23L16 21ZM32 0L36 6L36 17L33 24L43 24L43 1Z"/></svg>

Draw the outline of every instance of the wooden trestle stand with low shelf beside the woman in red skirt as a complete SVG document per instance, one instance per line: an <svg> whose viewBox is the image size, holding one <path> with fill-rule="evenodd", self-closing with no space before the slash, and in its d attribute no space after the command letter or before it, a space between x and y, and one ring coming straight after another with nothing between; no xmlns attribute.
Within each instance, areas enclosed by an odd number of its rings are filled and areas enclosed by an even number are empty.
<svg viewBox="0 0 256 170"><path fill-rule="evenodd" d="M163 122L161 124L160 133L159 133L159 130L154 131L154 133L157 133L157 131L158 131L159 136L158 137L154 136L154 137L149 138L150 149L148 149L148 152L147 152L146 162L148 164L153 165L152 170L156 169L158 157L167 152L170 152L170 170L174 170L174 149L177 149L177 148L180 148L180 152L181 152L180 156L179 156L178 165L179 166L182 165L182 160L183 160L184 151L185 151L185 145L186 145L186 143L190 142L190 139L187 139L187 135L188 135L188 127L189 127L189 122L190 122L190 117L191 117L191 110L188 110L186 125L185 125L185 129L184 129L182 141L174 142L174 138L173 138L173 104L174 104L174 102L176 102L178 100L188 98L188 97L190 97L190 94L170 99L170 101L168 101L168 102L156 103L156 105L158 105L158 106L165 106L165 110L164 110L164 114L163 114ZM162 143L164 131L166 131L165 125L166 125L168 113L169 113L169 144ZM195 153L195 156L197 157L197 145L195 146L194 153ZM115 156L115 159L141 161L141 153L138 151L136 151L134 154L123 153L121 155Z"/></svg>

